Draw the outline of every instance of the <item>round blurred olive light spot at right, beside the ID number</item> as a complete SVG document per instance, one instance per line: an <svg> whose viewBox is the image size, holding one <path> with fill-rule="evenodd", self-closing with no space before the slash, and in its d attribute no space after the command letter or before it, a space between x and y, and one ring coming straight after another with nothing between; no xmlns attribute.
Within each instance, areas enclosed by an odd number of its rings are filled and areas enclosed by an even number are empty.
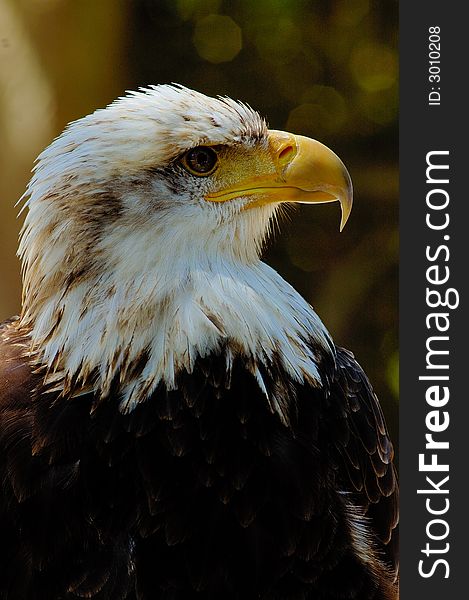
<svg viewBox="0 0 469 600"><path fill-rule="evenodd" d="M383 44L360 44L353 49L350 56L350 71L357 85L363 90L386 90L397 80L397 54Z"/></svg>

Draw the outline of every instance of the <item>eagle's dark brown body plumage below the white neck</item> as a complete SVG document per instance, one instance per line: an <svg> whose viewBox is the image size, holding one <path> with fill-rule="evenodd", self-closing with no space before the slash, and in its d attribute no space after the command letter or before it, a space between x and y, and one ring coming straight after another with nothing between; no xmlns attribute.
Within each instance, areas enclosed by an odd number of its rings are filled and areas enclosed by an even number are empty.
<svg viewBox="0 0 469 600"><path fill-rule="evenodd" d="M261 370L287 427L223 353L123 415L117 390L44 393L0 335L2 600L397 598L392 446L347 351L324 390Z"/></svg>

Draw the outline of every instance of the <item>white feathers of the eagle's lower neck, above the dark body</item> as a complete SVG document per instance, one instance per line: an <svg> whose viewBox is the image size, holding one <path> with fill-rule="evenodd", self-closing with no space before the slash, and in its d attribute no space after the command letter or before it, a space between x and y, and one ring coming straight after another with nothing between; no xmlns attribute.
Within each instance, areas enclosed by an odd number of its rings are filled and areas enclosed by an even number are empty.
<svg viewBox="0 0 469 600"><path fill-rule="evenodd" d="M266 394L255 364L268 365L274 355L293 380L322 384L318 362L331 352L329 335L311 306L260 260L195 266L168 257L145 278L125 275L117 270L67 293L59 325L41 344L42 359L66 380L88 386L91 377L105 395L118 377L121 407L132 410L160 382L174 389L178 371L191 372L197 357L226 346L227 369L236 354L246 357ZM43 338L56 310L53 301L44 306L33 338ZM143 368L135 377L137 363Z"/></svg>

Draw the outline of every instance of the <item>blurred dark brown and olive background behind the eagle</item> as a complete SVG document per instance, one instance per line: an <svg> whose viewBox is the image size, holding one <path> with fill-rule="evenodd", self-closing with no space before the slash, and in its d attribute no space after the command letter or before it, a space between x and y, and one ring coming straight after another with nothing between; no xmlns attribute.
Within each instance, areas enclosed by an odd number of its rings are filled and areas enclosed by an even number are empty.
<svg viewBox="0 0 469 600"><path fill-rule="evenodd" d="M397 435L397 0L0 0L0 319L20 310L15 202L65 124L183 83L344 160L355 206L301 207L266 260L352 349Z"/></svg>

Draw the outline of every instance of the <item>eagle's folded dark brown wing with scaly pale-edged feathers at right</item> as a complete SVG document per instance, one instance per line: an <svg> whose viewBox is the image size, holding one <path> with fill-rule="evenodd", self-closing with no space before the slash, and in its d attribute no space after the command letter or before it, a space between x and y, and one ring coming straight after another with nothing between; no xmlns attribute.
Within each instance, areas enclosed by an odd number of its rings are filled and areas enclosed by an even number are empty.
<svg viewBox="0 0 469 600"><path fill-rule="evenodd" d="M353 354L337 348L336 361L326 420L338 484L357 538L363 526L369 529L369 547L397 579L399 486L393 444L379 400Z"/></svg>

